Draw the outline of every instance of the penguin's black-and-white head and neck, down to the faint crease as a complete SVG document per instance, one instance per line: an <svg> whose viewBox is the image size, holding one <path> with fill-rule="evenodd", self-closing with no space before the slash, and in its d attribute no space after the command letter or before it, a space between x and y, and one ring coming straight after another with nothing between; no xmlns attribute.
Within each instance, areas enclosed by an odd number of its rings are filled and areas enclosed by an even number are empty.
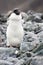
<svg viewBox="0 0 43 65"><path fill-rule="evenodd" d="M18 8L15 8L11 15L9 16L9 19L11 20L21 20L22 19L22 16L21 16L21 12Z"/></svg>

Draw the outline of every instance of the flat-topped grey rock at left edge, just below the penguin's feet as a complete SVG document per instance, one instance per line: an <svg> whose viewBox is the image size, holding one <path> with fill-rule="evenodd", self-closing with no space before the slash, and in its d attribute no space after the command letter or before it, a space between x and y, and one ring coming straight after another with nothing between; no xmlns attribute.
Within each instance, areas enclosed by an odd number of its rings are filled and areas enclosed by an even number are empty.
<svg viewBox="0 0 43 65"><path fill-rule="evenodd" d="M0 47L0 59L7 60L8 57L16 57L16 48Z"/></svg>

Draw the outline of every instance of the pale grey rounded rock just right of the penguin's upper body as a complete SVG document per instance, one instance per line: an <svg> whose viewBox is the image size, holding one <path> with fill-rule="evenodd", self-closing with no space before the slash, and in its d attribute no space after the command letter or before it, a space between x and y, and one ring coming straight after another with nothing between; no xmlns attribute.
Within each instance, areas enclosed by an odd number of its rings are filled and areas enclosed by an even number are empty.
<svg viewBox="0 0 43 65"><path fill-rule="evenodd" d="M26 31L26 32L28 32L28 31L34 31L34 29L36 28L36 24L35 24L35 22L32 22L31 20L30 21L28 21L28 22L26 22L25 24L24 24L24 30Z"/></svg>

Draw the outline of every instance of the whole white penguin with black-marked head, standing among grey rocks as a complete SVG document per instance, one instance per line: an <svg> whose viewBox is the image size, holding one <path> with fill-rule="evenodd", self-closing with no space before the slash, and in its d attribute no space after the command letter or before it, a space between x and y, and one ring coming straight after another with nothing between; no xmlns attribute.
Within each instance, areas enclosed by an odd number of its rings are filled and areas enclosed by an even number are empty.
<svg viewBox="0 0 43 65"><path fill-rule="evenodd" d="M22 26L22 16L18 9L15 9L8 18L9 25L7 27L7 46L19 47L23 41L24 30Z"/></svg>

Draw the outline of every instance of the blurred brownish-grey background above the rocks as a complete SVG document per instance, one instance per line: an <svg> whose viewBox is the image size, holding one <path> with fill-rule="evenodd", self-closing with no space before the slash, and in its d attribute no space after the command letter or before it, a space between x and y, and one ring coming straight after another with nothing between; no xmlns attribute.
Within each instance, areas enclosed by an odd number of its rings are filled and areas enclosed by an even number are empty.
<svg viewBox="0 0 43 65"><path fill-rule="evenodd" d="M0 0L0 13L8 12L16 7L25 12L28 10L43 12L43 0Z"/></svg>

